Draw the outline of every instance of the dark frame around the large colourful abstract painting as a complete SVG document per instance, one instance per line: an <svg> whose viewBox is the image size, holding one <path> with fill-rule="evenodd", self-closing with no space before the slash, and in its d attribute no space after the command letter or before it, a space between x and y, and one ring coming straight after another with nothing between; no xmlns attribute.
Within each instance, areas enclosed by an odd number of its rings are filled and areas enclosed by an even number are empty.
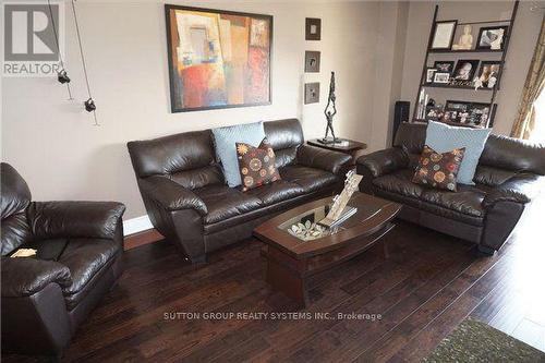
<svg viewBox="0 0 545 363"><path fill-rule="evenodd" d="M177 99L177 93L180 92L179 86L177 86L178 78L181 78L174 69L173 61L173 44L172 40L172 24L171 24L171 12L172 11L186 11L186 12L197 12L197 13L213 13L213 14L221 14L227 16L243 16L250 19L264 20L268 22L268 57L267 60L267 82L268 85L266 87L267 99L264 101L255 101L255 102L241 102L241 104L225 104L225 105L204 105L198 107L183 107L180 101ZM239 11L229 11L221 9L208 9L208 8L195 8L195 7L185 7L185 5L177 5L177 4L165 4L165 20L167 27L167 56L168 56L168 69L169 69L169 88L170 88L170 110L172 113L178 112L193 112L193 111L206 111L206 110L217 110L217 109L229 109L229 108L240 108L240 107L255 107L255 106L268 106L272 104L272 39L274 39L274 16L268 14L255 14L255 13L246 13ZM177 64L178 65L178 64ZM177 78L178 77L178 78Z"/></svg>

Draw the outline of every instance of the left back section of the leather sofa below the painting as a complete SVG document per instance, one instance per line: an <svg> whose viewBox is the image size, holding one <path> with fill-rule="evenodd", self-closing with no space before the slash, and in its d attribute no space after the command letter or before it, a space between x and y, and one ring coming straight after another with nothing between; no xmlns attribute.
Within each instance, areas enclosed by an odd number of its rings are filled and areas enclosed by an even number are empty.
<svg viewBox="0 0 545 363"><path fill-rule="evenodd" d="M223 183L210 130L135 141L126 146L138 178L169 176L189 189Z"/></svg>

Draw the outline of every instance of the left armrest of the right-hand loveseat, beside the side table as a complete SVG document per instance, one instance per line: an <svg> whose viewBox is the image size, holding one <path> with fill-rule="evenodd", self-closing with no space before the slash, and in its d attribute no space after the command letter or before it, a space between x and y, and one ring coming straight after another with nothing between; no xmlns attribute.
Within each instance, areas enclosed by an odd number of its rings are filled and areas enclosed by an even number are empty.
<svg viewBox="0 0 545 363"><path fill-rule="evenodd" d="M360 157L358 169L366 168L373 178L388 174L409 166L409 156L399 147L391 147Z"/></svg>

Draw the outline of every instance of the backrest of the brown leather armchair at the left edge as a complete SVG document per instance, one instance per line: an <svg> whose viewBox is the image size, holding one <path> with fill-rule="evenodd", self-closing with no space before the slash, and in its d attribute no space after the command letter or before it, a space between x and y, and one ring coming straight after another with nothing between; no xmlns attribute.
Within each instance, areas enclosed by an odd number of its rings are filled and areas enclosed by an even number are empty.
<svg viewBox="0 0 545 363"><path fill-rule="evenodd" d="M0 164L1 254L5 256L31 239L26 208L31 204L31 190L23 177L9 164Z"/></svg>

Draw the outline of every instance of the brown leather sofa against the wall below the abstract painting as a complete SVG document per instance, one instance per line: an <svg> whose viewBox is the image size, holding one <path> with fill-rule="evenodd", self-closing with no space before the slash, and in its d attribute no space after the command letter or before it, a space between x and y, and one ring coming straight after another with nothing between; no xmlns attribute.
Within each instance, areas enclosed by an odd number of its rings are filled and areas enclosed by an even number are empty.
<svg viewBox="0 0 545 363"><path fill-rule="evenodd" d="M264 125L281 180L245 193L226 185L210 130L128 144L154 227L193 263L251 237L271 215L342 185L350 156L305 145L296 119Z"/></svg>

